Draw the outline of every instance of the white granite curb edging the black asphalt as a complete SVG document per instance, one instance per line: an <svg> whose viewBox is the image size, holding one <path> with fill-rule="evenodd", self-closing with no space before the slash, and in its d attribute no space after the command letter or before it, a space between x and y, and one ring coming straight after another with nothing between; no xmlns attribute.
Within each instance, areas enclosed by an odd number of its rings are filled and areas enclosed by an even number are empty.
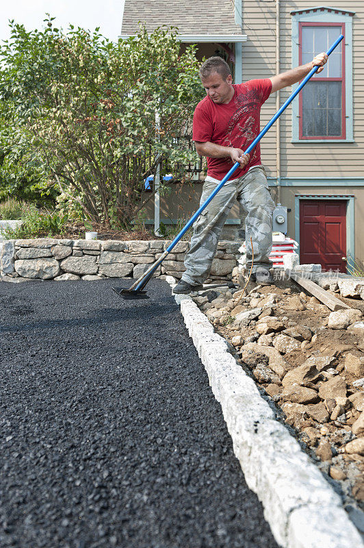
<svg viewBox="0 0 364 548"><path fill-rule="evenodd" d="M166 277L175 285L171 276ZM364 548L341 499L188 295L174 295L233 439L246 483L283 548Z"/></svg>

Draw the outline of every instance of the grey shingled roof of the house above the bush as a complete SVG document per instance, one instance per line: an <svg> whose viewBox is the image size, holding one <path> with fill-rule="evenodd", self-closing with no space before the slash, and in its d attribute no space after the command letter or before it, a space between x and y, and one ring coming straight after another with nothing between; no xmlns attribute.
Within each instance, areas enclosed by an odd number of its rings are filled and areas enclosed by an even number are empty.
<svg viewBox="0 0 364 548"><path fill-rule="evenodd" d="M173 25L181 34L242 34L233 0L125 0L121 34L137 33L138 21L148 32Z"/></svg>

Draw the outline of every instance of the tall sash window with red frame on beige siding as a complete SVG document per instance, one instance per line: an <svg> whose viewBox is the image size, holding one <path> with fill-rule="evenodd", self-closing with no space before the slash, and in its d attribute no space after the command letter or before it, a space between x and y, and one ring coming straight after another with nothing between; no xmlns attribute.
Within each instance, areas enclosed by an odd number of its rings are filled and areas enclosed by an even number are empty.
<svg viewBox="0 0 364 548"><path fill-rule="evenodd" d="M300 64L327 51L340 34L345 36L345 23L300 23ZM346 138L343 42L300 94L300 140Z"/></svg>

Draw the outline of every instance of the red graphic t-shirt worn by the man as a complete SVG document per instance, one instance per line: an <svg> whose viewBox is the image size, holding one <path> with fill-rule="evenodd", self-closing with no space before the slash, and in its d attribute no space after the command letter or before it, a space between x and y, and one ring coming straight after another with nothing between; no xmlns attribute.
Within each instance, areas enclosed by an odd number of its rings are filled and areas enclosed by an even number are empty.
<svg viewBox="0 0 364 548"><path fill-rule="evenodd" d="M213 142L222 147L248 148L260 131L261 105L272 90L269 78L233 84L235 93L230 103L216 104L207 95L194 111L193 140ZM242 177L252 166L261 164L260 143L250 152L249 163L237 169L230 179ZM207 158L207 175L221 180L232 168L230 158ZM230 180L229 179L229 180Z"/></svg>

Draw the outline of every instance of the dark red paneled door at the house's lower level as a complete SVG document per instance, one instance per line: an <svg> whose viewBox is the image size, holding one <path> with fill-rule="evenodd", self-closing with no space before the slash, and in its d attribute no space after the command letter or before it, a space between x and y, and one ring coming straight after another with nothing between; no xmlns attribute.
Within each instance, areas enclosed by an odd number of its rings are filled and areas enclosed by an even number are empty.
<svg viewBox="0 0 364 548"><path fill-rule="evenodd" d="M346 272L346 200L300 200L300 263Z"/></svg>

